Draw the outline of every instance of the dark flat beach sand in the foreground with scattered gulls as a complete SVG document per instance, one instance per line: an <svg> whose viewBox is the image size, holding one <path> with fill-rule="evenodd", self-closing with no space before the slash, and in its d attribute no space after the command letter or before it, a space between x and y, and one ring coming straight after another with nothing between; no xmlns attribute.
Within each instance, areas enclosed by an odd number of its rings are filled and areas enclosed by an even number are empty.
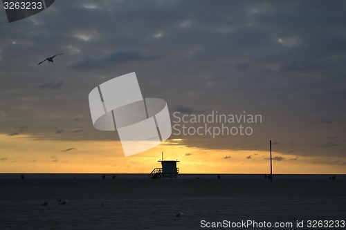
<svg viewBox="0 0 346 230"><path fill-rule="evenodd" d="M41 206L45 200L50 203ZM201 229L201 220L346 220L346 180L3 179L0 211L0 229ZM180 211L185 215L173 218Z"/></svg>

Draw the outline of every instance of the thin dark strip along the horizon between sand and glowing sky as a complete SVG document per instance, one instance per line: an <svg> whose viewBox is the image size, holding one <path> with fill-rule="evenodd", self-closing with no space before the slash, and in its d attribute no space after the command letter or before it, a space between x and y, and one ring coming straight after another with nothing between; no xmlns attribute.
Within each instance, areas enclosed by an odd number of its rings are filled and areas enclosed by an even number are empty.
<svg viewBox="0 0 346 230"><path fill-rule="evenodd" d="M0 179L148 179L149 173L0 173ZM273 174L273 180L346 180L346 174ZM264 173L179 173L178 179L264 179ZM268 180L268 173L267 173Z"/></svg>

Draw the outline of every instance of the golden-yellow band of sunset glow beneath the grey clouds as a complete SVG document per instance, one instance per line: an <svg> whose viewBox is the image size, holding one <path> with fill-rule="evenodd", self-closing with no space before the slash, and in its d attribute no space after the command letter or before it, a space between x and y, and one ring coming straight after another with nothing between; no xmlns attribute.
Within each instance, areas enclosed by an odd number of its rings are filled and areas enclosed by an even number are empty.
<svg viewBox="0 0 346 230"><path fill-rule="evenodd" d="M164 160L179 160L180 173L269 173L268 151L235 151L185 146L172 139L125 157L119 141L37 140L30 135L0 135L1 173L150 173ZM18 144L20 143L20 144ZM273 172L346 173L342 157L302 157L273 152Z"/></svg>

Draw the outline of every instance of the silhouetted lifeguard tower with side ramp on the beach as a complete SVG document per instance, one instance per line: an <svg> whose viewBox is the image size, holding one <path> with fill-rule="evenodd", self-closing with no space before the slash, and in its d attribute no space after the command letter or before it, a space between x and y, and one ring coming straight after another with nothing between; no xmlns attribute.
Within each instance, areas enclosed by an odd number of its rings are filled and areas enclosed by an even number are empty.
<svg viewBox="0 0 346 230"><path fill-rule="evenodd" d="M150 179L158 179L158 178L176 178L176 175L179 173L179 168L176 168L176 162L179 160L158 160L161 162L162 168L153 169L152 173L148 175Z"/></svg>

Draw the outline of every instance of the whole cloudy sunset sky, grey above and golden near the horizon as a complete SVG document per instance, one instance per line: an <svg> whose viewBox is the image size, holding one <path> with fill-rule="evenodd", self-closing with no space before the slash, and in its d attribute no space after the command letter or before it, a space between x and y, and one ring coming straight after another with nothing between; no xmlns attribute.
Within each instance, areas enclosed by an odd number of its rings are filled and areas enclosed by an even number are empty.
<svg viewBox="0 0 346 230"><path fill-rule="evenodd" d="M181 173L268 173L269 140L273 173L346 173L345 10L345 1L56 0L8 23L1 8L0 173L150 173L162 152ZM117 132L93 127L88 95L132 72L176 126L125 157ZM213 114L261 119L193 120ZM204 132L222 125L248 133Z"/></svg>

